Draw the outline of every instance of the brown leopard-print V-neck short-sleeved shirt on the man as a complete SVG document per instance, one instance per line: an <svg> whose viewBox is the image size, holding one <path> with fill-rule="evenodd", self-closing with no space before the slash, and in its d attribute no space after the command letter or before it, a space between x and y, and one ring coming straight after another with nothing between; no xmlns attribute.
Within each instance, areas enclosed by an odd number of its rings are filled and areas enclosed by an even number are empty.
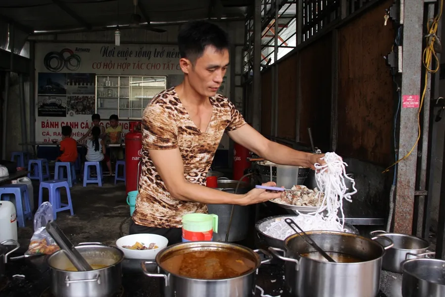
<svg viewBox="0 0 445 297"><path fill-rule="evenodd" d="M158 94L142 116L142 165L139 194L133 220L136 224L157 228L179 228L187 213L207 213L207 205L178 200L170 195L156 171L149 149L179 148L184 178L205 186L207 172L225 131L244 124L243 116L222 95L209 98L213 112L207 131L201 132L182 106L174 88Z"/></svg>

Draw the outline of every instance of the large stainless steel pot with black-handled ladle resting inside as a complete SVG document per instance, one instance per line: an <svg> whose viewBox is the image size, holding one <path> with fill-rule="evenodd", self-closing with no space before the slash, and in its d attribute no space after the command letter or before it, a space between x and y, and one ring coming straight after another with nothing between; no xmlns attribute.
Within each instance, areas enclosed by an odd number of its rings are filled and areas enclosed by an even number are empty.
<svg viewBox="0 0 445 297"><path fill-rule="evenodd" d="M380 270L385 249L374 240L359 235L311 231L307 234L323 250L362 259L356 263L331 263L301 256L314 252L300 234L284 241L286 251L269 247L278 258L285 261L285 282L294 297L376 297L379 292ZM383 238L383 237L381 237ZM386 239L391 242L390 239ZM282 252L283 255L278 252Z"/></svg>

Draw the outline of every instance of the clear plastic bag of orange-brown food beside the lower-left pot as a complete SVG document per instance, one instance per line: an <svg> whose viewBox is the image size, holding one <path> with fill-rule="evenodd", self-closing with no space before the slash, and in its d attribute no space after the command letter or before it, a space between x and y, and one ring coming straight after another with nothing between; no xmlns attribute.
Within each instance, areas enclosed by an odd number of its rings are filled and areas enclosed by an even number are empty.
<svg viewBox="0 0 445 297"><path fill-rule="evenodd" d="M43 202L34 215L34 234L25 255L50 255L60 249L46 232L46 224L52 220L52 205L49 202Z"/></svg>

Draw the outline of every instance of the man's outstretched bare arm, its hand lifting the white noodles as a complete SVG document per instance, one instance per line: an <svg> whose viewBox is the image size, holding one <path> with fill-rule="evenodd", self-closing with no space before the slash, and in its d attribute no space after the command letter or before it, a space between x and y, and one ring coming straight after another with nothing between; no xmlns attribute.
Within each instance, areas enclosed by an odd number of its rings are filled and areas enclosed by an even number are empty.
<svg viewBox="0 0 445 297"><path fill-rule="evenodd" d="M237 144L255 152L259 156L276 164L310 167L323 163L323 155L299 151L268 140L248 124L239 129L227 132L228 136Z"/></svg>

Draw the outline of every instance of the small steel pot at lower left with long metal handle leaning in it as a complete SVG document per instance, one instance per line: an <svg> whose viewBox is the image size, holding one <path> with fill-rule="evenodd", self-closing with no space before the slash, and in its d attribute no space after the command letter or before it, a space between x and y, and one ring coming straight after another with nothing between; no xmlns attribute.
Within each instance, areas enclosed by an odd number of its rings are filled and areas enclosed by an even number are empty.
<svg viewBox="0 0 445 297"><path fill-rule="evenodd" d="M79 244L76 249L90 265L105 267L91 271L67 271L73 264L63 250L56 251L47 260L54 296L109 297L121 288L124 253L120 249L100 243Z"/></svg>

